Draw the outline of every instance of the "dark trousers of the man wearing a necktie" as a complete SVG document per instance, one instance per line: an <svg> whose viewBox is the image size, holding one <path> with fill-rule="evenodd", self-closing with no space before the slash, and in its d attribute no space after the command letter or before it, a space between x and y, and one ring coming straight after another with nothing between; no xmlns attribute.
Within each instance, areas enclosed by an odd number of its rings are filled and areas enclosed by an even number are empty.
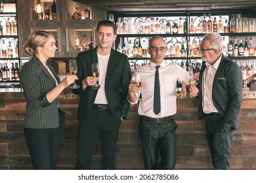
<svg viewBox="0 0 256 183"><path fill-rule="evenodd" d="M139 135L142 140L144 169L174 169L176 163L177 124L172 116L162 122L140 116ZM158 152L161 160L158 163Z"/></svg>

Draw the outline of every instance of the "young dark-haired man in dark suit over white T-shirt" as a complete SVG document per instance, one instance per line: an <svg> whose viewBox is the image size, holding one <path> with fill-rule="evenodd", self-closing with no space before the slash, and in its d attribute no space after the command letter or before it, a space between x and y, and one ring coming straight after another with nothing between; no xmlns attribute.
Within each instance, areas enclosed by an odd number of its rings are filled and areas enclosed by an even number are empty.
<svg viewBox="0 0 256 183"><path fill-rule="evenodd" d="M108 20L98 22L98 46L77 56L77 76L81 88L78 108L77 164L89 169L98 136L101 137L102 169L115 169L115 152L121 120L129 110L127 90L131 69L127 56L112 49L117 27ZM98 63L99 78L93 77L92 64ZM100 89L93 86L98 82Z"/></svg>

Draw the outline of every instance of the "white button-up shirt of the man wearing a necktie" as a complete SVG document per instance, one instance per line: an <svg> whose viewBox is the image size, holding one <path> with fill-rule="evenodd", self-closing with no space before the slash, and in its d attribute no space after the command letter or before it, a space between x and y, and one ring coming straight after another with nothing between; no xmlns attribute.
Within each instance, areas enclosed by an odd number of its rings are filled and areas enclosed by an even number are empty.
<svg viewBox="0 0 256 183"><path fill-rule="evenodd" d="M161 96L161 112L156 115L153 111L154 105L154 80L156 74L156 64L147 63L139 67L136 72L141 75L141 96L142 99L139 103L139 114L148 116L150 118L163 118L176 114L176 94L177 94L177 81L184 80L186 86L189 84L191 76L182 67L176 63L166 63L163 61L159 69L160 79L160 96ZM131 78L131 82L133 82ZM130 102L130 101L129 101ZM130 102L131 103L131 102ZM135 103L138 103L136 101ZM135 104L131 103L131 104Z"/></svg>

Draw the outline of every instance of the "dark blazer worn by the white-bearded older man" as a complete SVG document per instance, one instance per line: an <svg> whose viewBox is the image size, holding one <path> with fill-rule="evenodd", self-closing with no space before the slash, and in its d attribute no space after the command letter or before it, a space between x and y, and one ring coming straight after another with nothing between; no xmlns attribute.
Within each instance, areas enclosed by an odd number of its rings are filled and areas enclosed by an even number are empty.
<svg viewBox="0 0 256 183"><path fill-rule="evenodd" d="M202 77L205 62L200 71L198 118L205 118L202 108ZM242 105L242 72L240 67L232 60L222 56L221 63L213 80L213 103L222 118L222 124L227 131L230 127L239 128L238 113Z"/></svg>

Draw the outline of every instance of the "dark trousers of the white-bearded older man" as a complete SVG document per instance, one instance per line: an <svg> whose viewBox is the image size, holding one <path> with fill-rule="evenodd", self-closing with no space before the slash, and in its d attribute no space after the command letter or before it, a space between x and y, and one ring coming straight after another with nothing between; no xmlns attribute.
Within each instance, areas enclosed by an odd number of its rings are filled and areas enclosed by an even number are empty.
<svg viewBox="0 0 256 183"><path fill-rule="evenodd" d="M214 169L226 170L230 167L231 144L234 129L224 130L222 116L206 115L205 134L211 152Z"/></svg>

